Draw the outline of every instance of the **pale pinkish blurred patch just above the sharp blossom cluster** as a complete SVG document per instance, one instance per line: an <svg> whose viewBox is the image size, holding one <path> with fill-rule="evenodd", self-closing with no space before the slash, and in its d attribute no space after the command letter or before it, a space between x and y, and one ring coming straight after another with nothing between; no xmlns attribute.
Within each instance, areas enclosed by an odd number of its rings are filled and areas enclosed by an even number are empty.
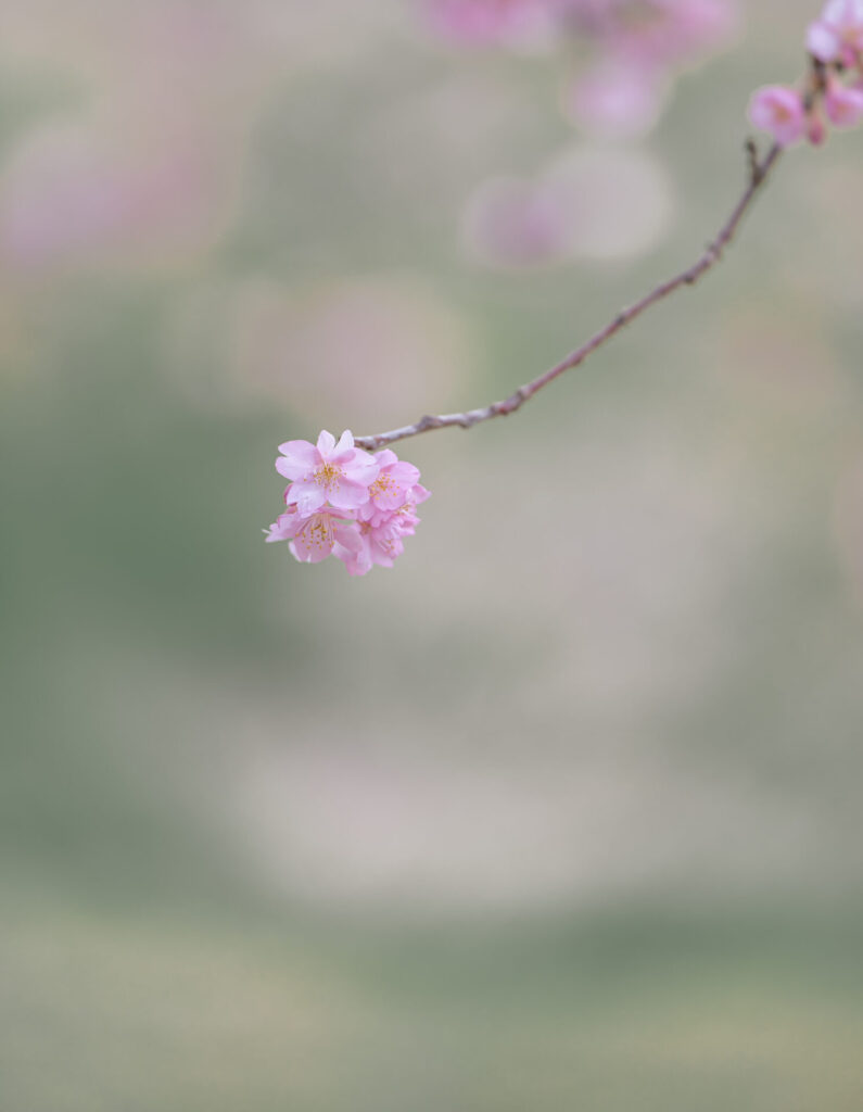
<svg viewBox="0 0 863 1112"><path fill-rule="evenodd" d="M199 405L264 398L289 405L309 427L371 428L418 411L429 390L452 397L473 345L443 291L420 275L386 271L299 289L254 279L199 287L167 347L168 369Z"/></svg>

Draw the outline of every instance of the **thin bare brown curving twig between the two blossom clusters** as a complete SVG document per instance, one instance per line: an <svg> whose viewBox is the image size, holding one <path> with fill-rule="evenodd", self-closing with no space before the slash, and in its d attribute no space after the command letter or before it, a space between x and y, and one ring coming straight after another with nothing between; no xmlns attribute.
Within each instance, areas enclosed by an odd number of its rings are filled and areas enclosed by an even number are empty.
<svg viewBox="0 0 863 1112"><path fill-rule="evenodd" d="M508 414L520 409L525 401L533 398L534 395L548 386L549 383L559 378L564 371L581 366L597 348L601 348L613 336L619 332L621 329L635 320L636 317L641 317L651 306L664 300L669 294L681 289L683 286L694 286L702 275L711 270L720 261L724 249L734 238L743 217L767 180L767 176L776 163L781 152L782 147L775 143L762 159L758 157L755 143L750 139L746 143L748 166L746 190L734 206L731 216L722 226L716 237L707 245L698 259L691 267L687 267L686 270L682 270L673 278L661 282L634 305L622 309L605 328L592 336L591 339L579 348L576 348L575 351L572 351L562 363L558 363L555 367L546 370L538 378L533 379L533 381L527 383L525 386L520 386L515 394L512 394L508 398L504 398L502 401L493 401L489 406L484 406L480 409L468 409L462 414L440 414L437 417L426 415L425 417L420 417L414 425L394 428L389 433L378 433L376 436L358 436L355 438L355 444L358 447L374 451L386 447L388 444L395 444L397 440L405 440L409 436L418 436L420 433L428 433L432 429L449 428L452 426L473 428L474 425L479 425L480 421L490 420L493 417L506 417Z"/></svg>

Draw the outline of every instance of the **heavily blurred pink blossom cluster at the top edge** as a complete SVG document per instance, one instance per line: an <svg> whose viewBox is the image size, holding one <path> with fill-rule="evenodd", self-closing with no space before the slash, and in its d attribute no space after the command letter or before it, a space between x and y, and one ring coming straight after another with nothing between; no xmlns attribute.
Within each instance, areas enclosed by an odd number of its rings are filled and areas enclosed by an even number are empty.
<svg viewBox="0 0 863 1112"><path fill-rule="evenodd" d="M733 0L425 0L432 27L469 46L586 46L564 108L594 130L638 132L656 120L676 67L732 29Z"/></svg>

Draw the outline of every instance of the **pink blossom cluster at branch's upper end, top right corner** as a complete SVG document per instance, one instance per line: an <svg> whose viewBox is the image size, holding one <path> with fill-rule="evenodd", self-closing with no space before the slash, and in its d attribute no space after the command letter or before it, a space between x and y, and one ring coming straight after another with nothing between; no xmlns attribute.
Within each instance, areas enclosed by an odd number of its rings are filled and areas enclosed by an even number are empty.
<svg viewBox="0 0 863 1112"><path fill-rule="evenodd" d="M752 122L782 147L803 138L820 146L824 117L837 128L863 118L863 0L827 0L809 27L806 49L812 67L802 88L765 86L750 103Z"/></svg>

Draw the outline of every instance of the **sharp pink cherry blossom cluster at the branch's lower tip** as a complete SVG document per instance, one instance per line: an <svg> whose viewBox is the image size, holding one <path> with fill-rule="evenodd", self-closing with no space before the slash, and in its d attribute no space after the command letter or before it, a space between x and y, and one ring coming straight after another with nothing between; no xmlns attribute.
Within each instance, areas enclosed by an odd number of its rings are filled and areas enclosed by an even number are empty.
<svg viewBox="0 0 863 1112"><path fill-rule="evenodd" d="M393 567L419 524L416 507L429 497L418 469L389 449L373 456L355 448L350 433L337 444L324 430L316 445L288 440L279 451L276 470L290 483L267 540L288 540L306 564L333 555L349 575Z"/></svg>

